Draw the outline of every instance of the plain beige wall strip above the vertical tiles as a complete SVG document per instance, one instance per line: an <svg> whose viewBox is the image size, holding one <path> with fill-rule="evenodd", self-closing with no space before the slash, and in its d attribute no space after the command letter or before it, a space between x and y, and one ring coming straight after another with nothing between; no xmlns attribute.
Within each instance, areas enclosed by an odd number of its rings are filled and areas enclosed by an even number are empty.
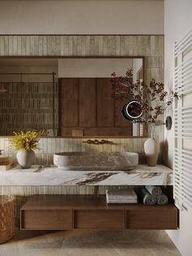
<svg viewBox="0 0 192 256"><path fill-rule="evenodd" d="M0 1L4 34L164 34L164 1Z"/></svg>

